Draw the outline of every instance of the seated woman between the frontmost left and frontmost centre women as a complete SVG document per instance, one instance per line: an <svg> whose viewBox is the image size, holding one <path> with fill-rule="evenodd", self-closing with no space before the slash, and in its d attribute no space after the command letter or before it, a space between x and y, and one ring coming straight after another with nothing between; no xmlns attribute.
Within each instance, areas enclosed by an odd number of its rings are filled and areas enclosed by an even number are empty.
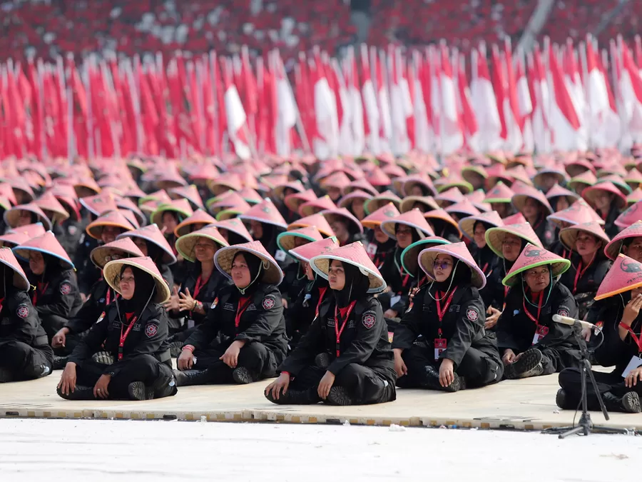
<svg viewBox="0 0 642 482"><path fill-rule="evenodd" d="M178 386L252 383L274 376L285 358L277 262L259 241L220 248L214 261L234 286L220 291L216 306L185 341L175 371Z"/></svg>

